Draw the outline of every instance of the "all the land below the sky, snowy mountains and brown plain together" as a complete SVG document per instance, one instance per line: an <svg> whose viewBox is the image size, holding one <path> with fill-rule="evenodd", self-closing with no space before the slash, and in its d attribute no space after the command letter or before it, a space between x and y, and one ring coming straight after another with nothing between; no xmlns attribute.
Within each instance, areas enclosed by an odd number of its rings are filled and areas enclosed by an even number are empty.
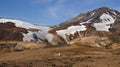
<svg viewBox="0 0 120 67"><path fill-rule="evenodd" d="M120 67L120 12L100 7L55 26L0 18L0 67Z"/></svg>

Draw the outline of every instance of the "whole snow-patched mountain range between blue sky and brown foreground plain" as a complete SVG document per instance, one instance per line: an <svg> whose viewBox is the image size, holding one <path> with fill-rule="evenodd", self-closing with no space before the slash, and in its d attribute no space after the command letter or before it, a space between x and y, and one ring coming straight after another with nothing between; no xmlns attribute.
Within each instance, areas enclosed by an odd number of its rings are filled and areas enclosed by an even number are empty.
<svg viewBox="0 0 120 67"><path fill-rule="evenodd" d="M35 41L42 45L81 44L105 47L120 42L120 12L101 7L80 13L52 27L0 18L0 41Z"/></svg>

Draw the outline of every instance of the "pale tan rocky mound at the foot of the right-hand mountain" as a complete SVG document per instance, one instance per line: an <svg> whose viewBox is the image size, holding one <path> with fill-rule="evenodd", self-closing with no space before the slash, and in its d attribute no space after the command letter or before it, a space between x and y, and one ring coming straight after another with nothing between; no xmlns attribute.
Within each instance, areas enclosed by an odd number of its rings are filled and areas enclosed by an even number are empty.
<svg viewBox="0 0 120 67"><path fill-rule="evenodd" d="M112 42L106 37L90 36L74 39L68 42L70 45L83 45L83 46L94 46L94 47L107 47Z"/></svg>

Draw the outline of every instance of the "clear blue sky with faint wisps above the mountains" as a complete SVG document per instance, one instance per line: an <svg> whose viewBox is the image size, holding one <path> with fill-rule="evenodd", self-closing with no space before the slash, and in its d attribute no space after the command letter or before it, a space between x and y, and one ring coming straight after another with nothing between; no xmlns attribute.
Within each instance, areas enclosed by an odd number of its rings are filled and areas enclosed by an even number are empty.
<svg viewBox="0 0 120 67"><path fill-rule="evenodd" d="M102 6L120 10L120 0L0 0L0 17L50 26Z"/></svg>

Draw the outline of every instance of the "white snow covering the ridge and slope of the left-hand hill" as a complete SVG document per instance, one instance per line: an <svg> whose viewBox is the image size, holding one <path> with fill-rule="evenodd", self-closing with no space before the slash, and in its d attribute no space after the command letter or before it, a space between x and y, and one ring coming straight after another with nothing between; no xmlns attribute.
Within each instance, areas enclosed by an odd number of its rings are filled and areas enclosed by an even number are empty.
<svg viewBox="0 0 120 67"><path fill-rule="evenodd" d="M36 36L38 38L41 38L41 39L48 39L48 41L51 41L53 36L52 34L48 33L48 30L50 30L50 27L43 27L43 26L37 26L37 25L34 25L34 24L30 24L30 23L27 23L27 22L23 22L23 21L19 21L19 20L14 20L14 19L5 19L5 18L1 18L0 19L0 23L7 23L7 22L12 22L12 23L15 23L15 26L16 27L21 27L21 28L26 28L26 29L39 29L41 31L39 32L32 32L32 31L28 31L27 34L23 34L23 41L31 41L31 40L35 40L33 38L33 34L36 34Z"/></svg>

